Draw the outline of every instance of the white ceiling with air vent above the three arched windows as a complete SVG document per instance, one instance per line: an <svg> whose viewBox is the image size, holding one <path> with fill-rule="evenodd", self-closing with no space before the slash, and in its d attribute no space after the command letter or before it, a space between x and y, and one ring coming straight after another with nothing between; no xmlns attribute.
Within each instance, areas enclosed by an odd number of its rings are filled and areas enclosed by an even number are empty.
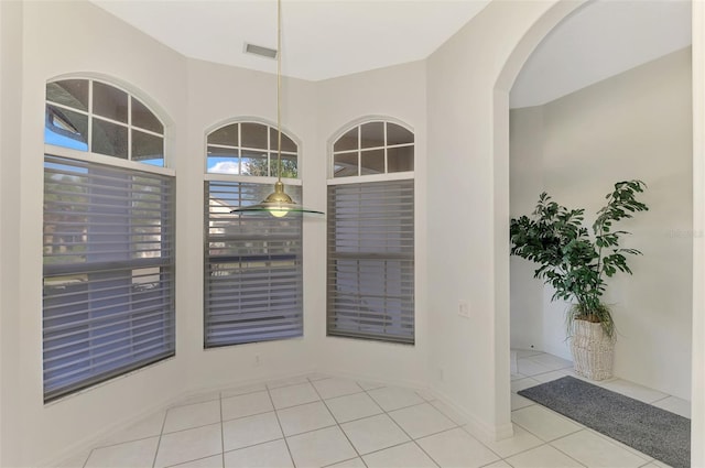
<svg viewBox="0 0 705 468"><path fill-rule="evenodd" d="M187 57L261 72L276 48L274 0L93 0ZM282 74L321 80L427 57L489 0L282 0Z"/></svg>

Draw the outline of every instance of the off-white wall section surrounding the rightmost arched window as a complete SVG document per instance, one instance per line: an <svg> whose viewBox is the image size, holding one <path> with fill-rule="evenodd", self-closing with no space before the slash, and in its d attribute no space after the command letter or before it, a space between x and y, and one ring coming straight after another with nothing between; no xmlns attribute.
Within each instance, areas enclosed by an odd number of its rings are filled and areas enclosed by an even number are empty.
<svg viewBox="0 0 705 468"><path fill-rule="evenodd" d="M425 269L425 179L426 167L426 68L413 62L316 83L318 102L318 146L321 167L328 167L328 144L333 137L359 119L370 117L398 119L413 129L415 138L415 344L414 346L326 337L325 327L317 335L318 360L324 372L426 385L427 306ZM326 172L321 191L325 197ZM319 249L325 249L325 236ZM321 250L319 250L321 251ZM325 255L321 255L324 258ZM325 262L321 263L317 286L323 291L318 320L325 325Z"/></svg>

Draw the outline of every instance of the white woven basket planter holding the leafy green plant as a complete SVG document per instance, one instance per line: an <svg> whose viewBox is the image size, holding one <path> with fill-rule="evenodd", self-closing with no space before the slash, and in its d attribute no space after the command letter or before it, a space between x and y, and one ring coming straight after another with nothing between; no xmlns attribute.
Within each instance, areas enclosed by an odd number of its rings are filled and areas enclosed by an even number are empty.
<svg viewBox="0 0 705 468"><path fill-rule="evenodd" d="M612 377L615 340L605 335L600 324L575 320L571 351L575 372L590 380Z"/></svg>

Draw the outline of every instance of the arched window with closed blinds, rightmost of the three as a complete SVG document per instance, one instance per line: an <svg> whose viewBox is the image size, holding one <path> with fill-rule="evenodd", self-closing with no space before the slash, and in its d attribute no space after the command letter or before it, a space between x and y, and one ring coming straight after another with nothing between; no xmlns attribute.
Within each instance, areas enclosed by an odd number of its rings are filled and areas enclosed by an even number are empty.
<svg viewBox="0 0 705 468"><path fill-rule="evenodd" d="M414 134L368 120L330 150L327 334L413 344Z"/></svg>

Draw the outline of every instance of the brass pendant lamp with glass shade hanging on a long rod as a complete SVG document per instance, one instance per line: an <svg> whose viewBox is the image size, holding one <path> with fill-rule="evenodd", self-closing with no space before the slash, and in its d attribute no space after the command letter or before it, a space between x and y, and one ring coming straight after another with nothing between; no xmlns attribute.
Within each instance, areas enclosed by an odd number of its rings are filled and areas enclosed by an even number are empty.
<svg viewBox="0 0 705 468"><path fill-rule="evenodd" d="M323 215L323 211L304 208L296 204L284 192L282 183L282 0L276 0L276 183L274 192L269 194L257 205L242 206L232 209L230 213L245 214L269 214L278 218L284 216L301 215ZM271 167L271 165L270 165Z"/></svg>

